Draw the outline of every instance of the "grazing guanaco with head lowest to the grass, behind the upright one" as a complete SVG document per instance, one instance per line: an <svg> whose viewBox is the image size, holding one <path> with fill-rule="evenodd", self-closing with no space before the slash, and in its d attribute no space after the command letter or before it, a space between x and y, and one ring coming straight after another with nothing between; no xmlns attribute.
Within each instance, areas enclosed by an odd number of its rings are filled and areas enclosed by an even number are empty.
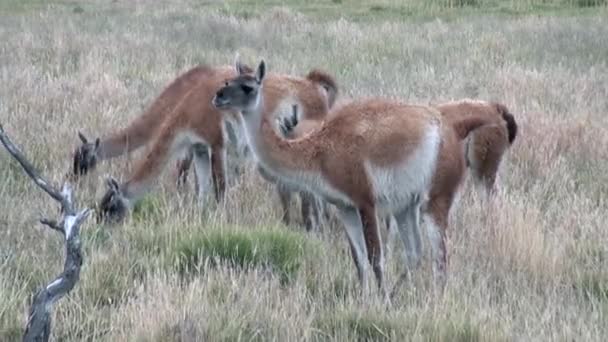
<svg viewBox="0 0 608 342"><path fill-rule="evenodd" d="M215 198L219 201L225 192L224 176L224 117L212 106L211 99L226 79L236 75L232 67L200 67L204 78L195 83L175 107L158 124L152 135L152 145L146 155L138 161L133 175L123 184L109 179L108 191L100 202L98 217L108 221L119 221L132 204L153 185L170 159L192 151L197 178L197 194L203 199L208 179L212 178ZM239 72L251 73L251 69L239 64ZM313 71L308 78L275 75L281 92L269 96L297 97L323 115L328 111L328 99L333 89L327 90L327 78ZM323 74L326 75L326 74ZM234 114L234 113L233 113ZM78 153L77 153L78 154ZM82 158L81 158L82 159ZM186 158L188 159L188 158ZM76 164L76 162L75 162ZM211 176L211 177L210 177Z"/></svg>

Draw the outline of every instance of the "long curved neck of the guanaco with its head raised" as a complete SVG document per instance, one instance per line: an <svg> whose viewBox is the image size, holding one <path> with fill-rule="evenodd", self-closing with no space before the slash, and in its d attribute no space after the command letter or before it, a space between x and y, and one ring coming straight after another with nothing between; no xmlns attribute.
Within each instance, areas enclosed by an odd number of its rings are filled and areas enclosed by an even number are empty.
<svg viewBox="0 0 608 342"><path fill-rule="evenodd" d="M279 175L316 170L313 142L309 139L289 141L280 137L273 129L271 116L262 94L254 108L242 112L247 140L258 161Z"/></svg>

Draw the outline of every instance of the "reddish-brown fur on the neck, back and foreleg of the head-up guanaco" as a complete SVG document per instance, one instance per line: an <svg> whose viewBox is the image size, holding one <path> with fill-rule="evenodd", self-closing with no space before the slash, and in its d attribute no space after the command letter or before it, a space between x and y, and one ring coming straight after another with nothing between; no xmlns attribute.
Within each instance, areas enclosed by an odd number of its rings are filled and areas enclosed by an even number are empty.
<svg viewBox="0 0 608 342"><path fill-rule="evenodd" d="M263 70L263 64L259 68ZM275 84L272 77L265 78L264 95L280 93L281 89ZM224 98L223 94L223 89L218 91L219 97ZM382 99L355 101L335 109L328 120L303 137L285 140L277 135L269 120L269 113L280 111L280 105L277 97L264 97L260 114L242 113L245 120L248 120L247 115L261 116L261 126L255 133L261 135L258 157L265 167L279 175L302 172L317 175L348 198L350 203L340 198L326 199L339 207L352 205L356 208L363 224L368 259L379 288L385 290L376 221L377 198L365 165L369 162L388 167L404 162L420 145L427 127L440 125L439 112L430 107ZM305 113L315 110L307 102L302 102L301 106ZM350 243L363 282L360 265L365 261L354 252L354 242Z"/></svg>

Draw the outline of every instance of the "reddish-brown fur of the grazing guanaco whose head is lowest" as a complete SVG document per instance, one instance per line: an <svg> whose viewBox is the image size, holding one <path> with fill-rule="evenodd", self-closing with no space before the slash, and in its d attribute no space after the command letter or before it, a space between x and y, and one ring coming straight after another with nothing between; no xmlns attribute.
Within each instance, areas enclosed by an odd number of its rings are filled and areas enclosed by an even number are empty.
<svg viewBox="0 0 608 342"><path fill-rule="evenodd" d="M245 70L251 71L249 68ZM182 98L174 102L172 111L165 114L160 123L158 120L145 121L140 118L137 121L139 127L130 125L131 131L138 131L141 130L141 126L146 126L155 134L151 138L148 137L153 142L145 157L137 162L132 176L120 187L126 198L135 199L149 190L167 162L177 152L176 146L174 146L176 138L180 134L186 133L204 140L209 146L215 198L220 200L223 197L226 185L223 160L223 120L220 112L212 106L211 99L217 89L227 79L234 77L236 72L233 67L227 66L198 67L195 74L200 77L200 80L194 84L191 83L190 89L185 86L180 88L183 91ZM325 97L317 95L320 94L319 88L311 81L287 75L276 75L274 81L277 83L276 88L281 91L269 94L268 98L291 96L307 103L316 112L327 112L327 100ZM175 90L173 93L177 95L178 91ZM164 95L169 96L168 93ZM155 101L155 103L159 102L159 100ZM159 127L155 127L154 124ZM178 162L179 169L184 170L189 167L192 160L192 154L189 154L190 156L184 161Z"/></svg>

